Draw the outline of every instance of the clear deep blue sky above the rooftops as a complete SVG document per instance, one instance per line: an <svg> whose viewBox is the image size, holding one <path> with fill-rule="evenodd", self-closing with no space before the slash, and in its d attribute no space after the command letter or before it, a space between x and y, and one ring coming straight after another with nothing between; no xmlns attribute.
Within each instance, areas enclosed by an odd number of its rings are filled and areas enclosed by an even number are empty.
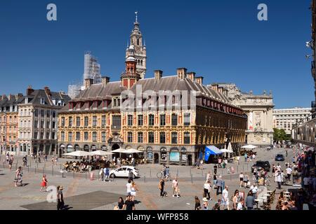
<svg viewBox="0 0 316 224"><path fill-rule="evenodd" d="M55 3L58 21L46 20ZM257 20L259 3L268 21ZM84 52L119 80L134 12L147 45L147 77L186 67L204 83L236 83L244 92L272 90L276 108L310 106L310 0L0 1L0 94L27 85L64 90L84 73Z"/></svg>

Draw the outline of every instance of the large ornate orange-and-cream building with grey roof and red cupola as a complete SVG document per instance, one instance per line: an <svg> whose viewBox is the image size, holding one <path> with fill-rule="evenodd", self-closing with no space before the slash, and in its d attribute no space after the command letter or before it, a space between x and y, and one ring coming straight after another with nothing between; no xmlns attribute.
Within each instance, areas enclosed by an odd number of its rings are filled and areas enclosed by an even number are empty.
<svg viewBox="0 0 316 224"><path fill-rule="evenodd" d="M244 144L247 119L242 109L231 104L225 89L206 87L202 77L186 69L177 69L176 76L166 77L162 77L162 71L155 71L154 78L140 78L135 71L136 64L128 58L121 81L110 82L103 77L102 83L93 85L93 80L86 80L86 90L58 113L60 154L136 148L152 163L192 165L205 146L223 148L230 141L236 150ZM143 92L195 91L196 106L163 106L163 110L154 112L121 110L121 92L136 93L137 85Z"/></svg>

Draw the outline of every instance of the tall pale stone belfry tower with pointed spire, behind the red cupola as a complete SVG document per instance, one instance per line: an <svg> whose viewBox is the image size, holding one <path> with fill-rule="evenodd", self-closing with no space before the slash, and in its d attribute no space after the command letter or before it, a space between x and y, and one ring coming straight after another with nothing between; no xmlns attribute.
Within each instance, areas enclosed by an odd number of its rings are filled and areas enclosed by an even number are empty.
<svg viewBox="0 0 316 224"><path fill-rule="evenodd" d="M136 20L134 22L134 28L131 32L130 43L126 47L126 59L129 57L129 47L133 45L134 47L134 57L136 59L136 73L140 75L140 78L145 78L146 73L146 45L144 41L143 45L143 35L139 29L138 22L138 12L135 12Z"/></svg>

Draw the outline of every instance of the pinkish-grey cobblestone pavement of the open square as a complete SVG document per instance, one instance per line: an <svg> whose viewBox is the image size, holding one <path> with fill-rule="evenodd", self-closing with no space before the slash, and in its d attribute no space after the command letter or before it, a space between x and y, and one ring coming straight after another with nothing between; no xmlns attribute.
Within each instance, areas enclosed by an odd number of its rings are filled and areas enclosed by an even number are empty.
<svg viewBox="0 0 316 224"><path fill-rule="evenodd" d="M269 160L272 165L275 154L284 153L284 148L279 148L267 152L264 148L258 148L256 160ZM285 166L285 162L291 161L291 150L289 149L289 157L287 160L280 162L280 165ZM285 154L285 153L284 153ZM29 161L29 167L23 169L23 183L26 186L14 187L13 179L15 167L19 166L22 158L15 158L18 164L13 165L10 171L7 165L3 164L4 156L1 156L0 167L0 209L55 209L56 203L46 202L48 193L40 192L41 176L43 172L47 175L48 186L62 185L65 197L65 204L69 209L113 209L118 198L126 195L126 179L114 179L105 183L98 180L98 171L94 172L95 180L91 181L89 174L73 174L60 173L60 164L66 160L61 159L58 165L52 167L51 162L42 162L34 164L34 160ZM49 161L49 159L48 159ZM244 162L241 158L239 165L230 164L228 167L234 166L235 174L228 174L227 169L218 169L219 174L223 174L225 185L229 186L230 196L239 189L248 193L248 189L239 188L239 172L247 172L250 174L251 165L254 162ZM166 182L166 191L169 197L159 197L157 173L162 168L162 165L140 165L140 179L136 179L138 193L136 195L136 209L194 209L194 197L198 196L202 200L203 184L206 173L212 171L213 165L203 165L203 169L192 167L170 166L171 177L178 176L178 184L181 197L172 197L171 181ZM250 174L249 177L252 177ZM275 183L270 179L272 186L270 189L275 189ZM284 189L287 189L284 186ZM264 195L267 188L261 187L261 195ZM277 190L277 194L279 190ZM211 193L213 200L209 203L210 207L216 200L220 199L221 195L216 196L215 191ZM278 195L276 195L278 197ZM5 202L5 203L4 203ZM275 205L272 206L272 209Z"/></svg>

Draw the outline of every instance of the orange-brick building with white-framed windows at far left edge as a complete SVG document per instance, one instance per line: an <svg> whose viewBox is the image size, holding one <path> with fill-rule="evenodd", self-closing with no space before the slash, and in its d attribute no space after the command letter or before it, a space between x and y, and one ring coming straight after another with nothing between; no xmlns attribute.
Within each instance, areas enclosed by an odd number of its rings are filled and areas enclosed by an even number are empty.
<svg viewBox="0 0 316 224"><path fill-rule="evenodd" d="M18 154L18 104L23 94L0 96L0 151Z"/></svg>

